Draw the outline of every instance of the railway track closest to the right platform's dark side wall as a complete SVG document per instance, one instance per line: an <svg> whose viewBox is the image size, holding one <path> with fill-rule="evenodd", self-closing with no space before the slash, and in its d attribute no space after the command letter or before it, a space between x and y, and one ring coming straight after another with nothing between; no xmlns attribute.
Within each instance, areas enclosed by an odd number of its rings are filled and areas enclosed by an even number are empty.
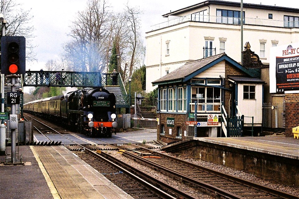
<svg viewBox="0 0 299 199"><path fill-rule="evenodd" d="M179 178L182 181L193 184L201 188L205 188L217 195L225 198L238 199L298 199L298 196L291 195L286 192L278 191L270 187L266 187L247 180L236 178L234 176L224 174L215 170L202 167L178 158L174 158L163 153L145 149L151 156L160 158L141 157L134 151L126 151L124 155L146 164L152 168Z"/></svg>

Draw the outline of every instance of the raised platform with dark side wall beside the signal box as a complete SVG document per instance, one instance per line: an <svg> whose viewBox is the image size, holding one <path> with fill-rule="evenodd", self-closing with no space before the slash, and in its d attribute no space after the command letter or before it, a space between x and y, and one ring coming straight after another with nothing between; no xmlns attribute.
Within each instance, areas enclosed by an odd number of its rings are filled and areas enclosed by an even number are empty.
<svg viewBox="0 0 299 199"><path fill-rule="evenodd" d="M194 137L161 149L299 187L299 139L293 137Z"/></svg>

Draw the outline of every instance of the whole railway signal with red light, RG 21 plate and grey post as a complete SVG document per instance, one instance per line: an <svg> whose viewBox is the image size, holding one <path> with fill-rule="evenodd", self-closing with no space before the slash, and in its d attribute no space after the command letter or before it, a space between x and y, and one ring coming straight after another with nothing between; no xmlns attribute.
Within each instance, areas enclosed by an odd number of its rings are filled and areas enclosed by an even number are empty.
<svg viewBox="0 0 299 199"><path fill-rule="evenodd" d="M11 91L7 92L7 104L11 104L9 115L9 126L11 129L11 163L16 159L16 135L18 117L16 114L17 104L20 104L20 93L16 92L17 79L21 74L26 73L25 64L25 37L23 36L2 36L1 37L1 73L11 82ZM1 132L0 132L1 133Z"/></svg>

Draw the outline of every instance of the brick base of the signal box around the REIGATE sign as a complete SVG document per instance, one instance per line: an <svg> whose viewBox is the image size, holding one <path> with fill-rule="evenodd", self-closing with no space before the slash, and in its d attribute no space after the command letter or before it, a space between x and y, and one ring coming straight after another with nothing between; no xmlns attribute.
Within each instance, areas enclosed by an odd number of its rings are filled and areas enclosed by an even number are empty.
<svg viewBox="0 0 299 199"><path fill-rule="evenodd" d="M186 121L187 114L171 114L171 113L157 113L157 118L159 118L159 125L157 126L157 139L170 143L173 141L182 141L186 140L184 137L184 131L186 130ZM174 118L174 127L167 127L166 119ZM161 125L164 125L165 135L161 135ZM182 139L176 138L177 136L177 127L182 128ZM172 129L172 134L169 135L169 129Z"/></svg>

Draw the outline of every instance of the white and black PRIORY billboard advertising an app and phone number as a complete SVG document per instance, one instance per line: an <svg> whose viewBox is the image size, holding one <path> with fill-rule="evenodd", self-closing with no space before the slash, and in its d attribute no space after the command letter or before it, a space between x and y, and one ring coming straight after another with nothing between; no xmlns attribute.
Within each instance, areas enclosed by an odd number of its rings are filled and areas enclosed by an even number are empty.
<svg viewBox="0 0 299 199"><path fill-rule="evenodd" d="M270 93L299 90L299 43L270 49L269 80Z"/></svg>

